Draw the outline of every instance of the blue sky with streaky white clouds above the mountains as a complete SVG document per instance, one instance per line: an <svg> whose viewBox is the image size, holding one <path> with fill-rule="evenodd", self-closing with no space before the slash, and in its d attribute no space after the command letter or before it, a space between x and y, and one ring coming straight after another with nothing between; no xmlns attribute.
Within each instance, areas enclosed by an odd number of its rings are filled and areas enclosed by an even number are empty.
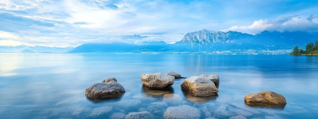
<svg viewBox="0 0 318 119"><path fill-rule="evenodd" d="M0 46L175 43L201 29L317 32L318 0L0 0Z"/></svg>

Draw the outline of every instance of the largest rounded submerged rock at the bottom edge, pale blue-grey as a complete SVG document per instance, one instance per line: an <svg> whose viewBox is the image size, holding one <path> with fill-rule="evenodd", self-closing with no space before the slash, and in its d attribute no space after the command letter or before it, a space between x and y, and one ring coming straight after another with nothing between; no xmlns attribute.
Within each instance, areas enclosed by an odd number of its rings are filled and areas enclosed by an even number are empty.
<svg viewBox="0 0 318 119"><path fill-rule="evenodd" d="M164 119L199 119L200 117L199 110L188 105L168 107L163 114Z"/></svg>

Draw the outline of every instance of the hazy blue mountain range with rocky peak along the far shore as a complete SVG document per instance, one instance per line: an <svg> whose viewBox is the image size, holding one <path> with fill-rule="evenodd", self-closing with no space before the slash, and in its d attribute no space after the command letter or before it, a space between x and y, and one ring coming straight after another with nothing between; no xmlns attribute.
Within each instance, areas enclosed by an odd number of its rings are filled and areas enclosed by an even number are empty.
<svg viewBox="0 0 318 119"><path fill-rule="evenodd" d="M143 39L147 36L125 36L130 39ZM167 44L161 42L128 43L88 43L76 48L57 47L0 47L0 52L20 53L173 53L173 54L288 54L299 45L305 47L309 42L318 40L317 33L303 31L269 32L251 35L236 31L221 32L202 29L187 33L179 42ZM23 53L23 52L22 52Z"/></svg>

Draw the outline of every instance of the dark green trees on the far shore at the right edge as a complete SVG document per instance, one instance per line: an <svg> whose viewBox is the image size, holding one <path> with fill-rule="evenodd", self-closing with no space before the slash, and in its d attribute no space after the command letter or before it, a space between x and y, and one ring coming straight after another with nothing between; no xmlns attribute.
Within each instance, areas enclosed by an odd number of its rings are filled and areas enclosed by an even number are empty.
<svg viewBox="0 0 318 119"><path fill-rule="evenodd" d="M298 46L294 48L294 51L290 54L294 56L299 55L318 55L318 40L314 43L306 45L306 50L300 49Z"/></svg>

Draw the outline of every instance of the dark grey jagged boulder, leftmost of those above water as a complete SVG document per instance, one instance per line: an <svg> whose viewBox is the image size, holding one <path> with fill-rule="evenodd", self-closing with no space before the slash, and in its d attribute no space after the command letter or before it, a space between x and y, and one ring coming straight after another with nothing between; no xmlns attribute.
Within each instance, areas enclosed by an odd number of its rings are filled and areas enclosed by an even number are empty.
<svg viewBox="0 0 318 119"><path fill-rule="evenodd" d="M85 90L85 95L90 100L120 97L124 93L124 87L116 81L95 83Z"/></svg>

